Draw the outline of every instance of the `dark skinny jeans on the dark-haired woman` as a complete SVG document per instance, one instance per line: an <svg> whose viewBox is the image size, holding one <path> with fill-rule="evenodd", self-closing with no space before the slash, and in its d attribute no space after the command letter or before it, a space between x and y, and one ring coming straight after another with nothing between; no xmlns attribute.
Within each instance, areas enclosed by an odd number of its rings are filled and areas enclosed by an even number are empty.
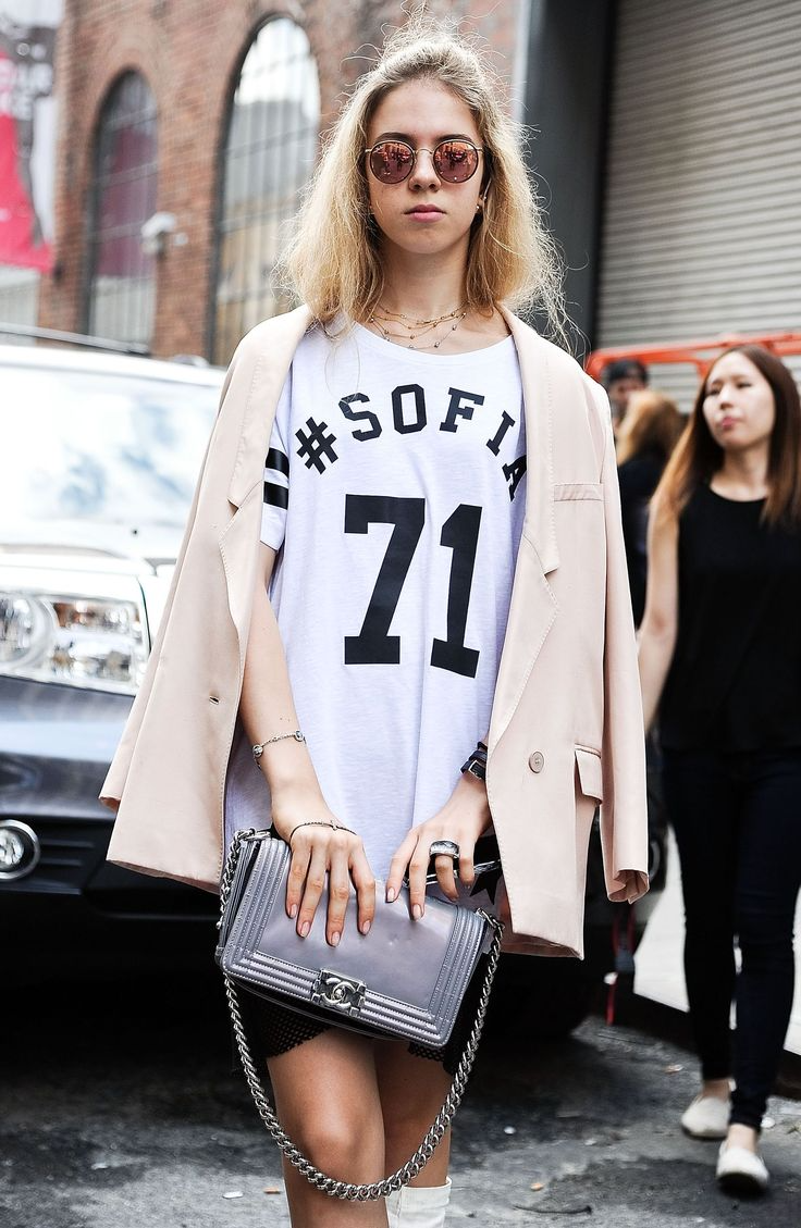
<svg viewBox="0 0 801 1228"><path fill-rule="evenodd" d="M665 750L663 782L682 865L684 974L703 1077L733 1076L731 1121L759 1130L792 1007L801 749Z"/></svg>

